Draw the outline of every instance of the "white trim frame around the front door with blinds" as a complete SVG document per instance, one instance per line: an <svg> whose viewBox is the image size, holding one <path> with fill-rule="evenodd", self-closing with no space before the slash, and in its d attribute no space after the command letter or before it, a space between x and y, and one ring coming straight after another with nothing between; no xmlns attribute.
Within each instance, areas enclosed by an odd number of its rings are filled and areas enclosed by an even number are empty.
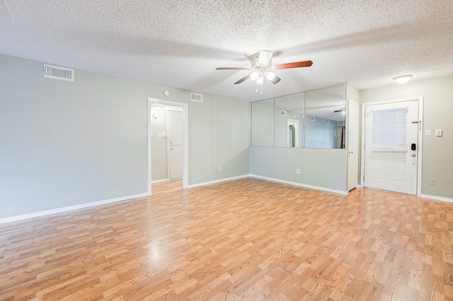
<svg viewBox="0 0 453 301"><path fill-rule="evenodd" d="M396 100L384 100L379 102L365 102L362 103L362 118L360 129L362 135L360 138L360 186L365 187L365 112L367 105L383 105L392 102L405 102L411 100L418 100L418 153L417 153L417 196L422 195L422 158L423 158L423 96L413 98L401 98Z"/></svg>

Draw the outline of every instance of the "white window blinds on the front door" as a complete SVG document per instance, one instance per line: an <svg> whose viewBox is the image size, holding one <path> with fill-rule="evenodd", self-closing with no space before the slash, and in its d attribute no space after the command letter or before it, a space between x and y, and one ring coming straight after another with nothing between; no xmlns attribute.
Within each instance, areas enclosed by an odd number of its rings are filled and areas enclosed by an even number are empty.
<svg viewBox="0 0 453 301"><path fill-rule="evenodd" d="M407 108L373 111L373 151L406 151Z"/></svg>

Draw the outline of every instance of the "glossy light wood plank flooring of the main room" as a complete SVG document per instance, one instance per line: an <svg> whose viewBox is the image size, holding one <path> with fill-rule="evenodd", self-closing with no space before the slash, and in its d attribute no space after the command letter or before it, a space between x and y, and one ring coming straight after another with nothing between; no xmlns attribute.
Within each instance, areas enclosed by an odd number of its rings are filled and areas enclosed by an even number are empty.
<svg viewBox="0 0 453 301"><path fill-rule="evenodd" d="M239 179L0 225L0 300L453 300L453 204Z"/></svg>

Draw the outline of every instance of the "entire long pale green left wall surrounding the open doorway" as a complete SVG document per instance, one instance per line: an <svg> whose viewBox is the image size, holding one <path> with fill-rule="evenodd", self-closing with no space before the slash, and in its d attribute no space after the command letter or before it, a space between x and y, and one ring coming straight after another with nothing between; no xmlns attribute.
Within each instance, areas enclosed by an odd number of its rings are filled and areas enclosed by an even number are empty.
<svg viewBox="0 0 453 301"><path fill-rule="evenodd" d="M190 91L81 70L58 81L42 69L0 54L0 218L146 194L148 98L189 104L189 184L248 175L248 103L190 102Z"/></svg>

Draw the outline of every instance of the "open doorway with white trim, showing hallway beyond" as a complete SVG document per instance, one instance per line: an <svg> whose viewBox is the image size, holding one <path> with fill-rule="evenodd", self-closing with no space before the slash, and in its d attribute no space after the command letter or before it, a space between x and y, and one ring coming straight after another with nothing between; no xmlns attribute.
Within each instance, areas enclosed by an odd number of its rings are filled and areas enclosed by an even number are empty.
<svg viewBox="0 0 453 301"><path fill-rule="evenodd" d="M188 187L188 105L148 98L148 194Z"/></svg>

